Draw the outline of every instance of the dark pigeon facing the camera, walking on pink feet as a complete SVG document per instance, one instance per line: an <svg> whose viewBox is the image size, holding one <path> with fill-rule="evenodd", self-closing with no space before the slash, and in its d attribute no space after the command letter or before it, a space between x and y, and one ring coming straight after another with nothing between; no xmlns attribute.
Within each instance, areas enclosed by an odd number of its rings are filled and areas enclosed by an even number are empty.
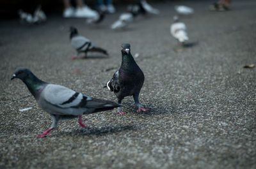
<svg viewBox="0 0 256 169"><path fill-rule="evenodd" d="M115 72L113 78L104 87L108 87L109 91L113 91L118 99L118 104L122 103L122 99L126 96L133 96L134 102L138 107L137 112L141 110L147 111L146 108L141 107L139 102L139 94L144 82L144 74L140 67L134 61L131 55L131 48L129 43L122 45L122 64L118 71ZM125 114L121 108L118 107L116 114Z"/></svg>

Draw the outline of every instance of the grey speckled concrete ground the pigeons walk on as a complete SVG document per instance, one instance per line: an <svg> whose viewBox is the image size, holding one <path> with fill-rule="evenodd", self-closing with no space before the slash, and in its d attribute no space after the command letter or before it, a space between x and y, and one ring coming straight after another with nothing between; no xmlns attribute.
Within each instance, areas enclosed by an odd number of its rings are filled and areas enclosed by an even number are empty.
<svg viewBox="0 0 256 169"><path fill-rule="evenodd" d="M209 11L211 1L182 1L196 11L182 21L198 45L177 53L169 26L178 2L153 3L161 15L140 17L124 31L109 29L124 6L99 26L51 14L38 26L2 21L0 168L256 168L256 68L243 68L256 61L256 1L232 1L227 12ZM107 48L109 57L71 61L69 26ZM35 138L51 117L32 96L24 98L30 94L20 80L10 81L15 68L116 101L102 86L120 66L123 42L140 54L140 101L150 111L136 113L125 98L125 115L84 115L88 129L77 119L60 121L52 136ZM26 107L32 109L19 112Z"/></svg>

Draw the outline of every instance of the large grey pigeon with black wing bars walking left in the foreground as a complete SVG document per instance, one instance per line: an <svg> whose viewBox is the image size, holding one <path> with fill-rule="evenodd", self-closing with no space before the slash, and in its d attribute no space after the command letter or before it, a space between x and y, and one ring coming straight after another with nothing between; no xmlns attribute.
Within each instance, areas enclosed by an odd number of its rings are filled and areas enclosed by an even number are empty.
<svg viewBox="0 0 256 169"><path fill-rule="evenodd" d="M38 106L51 114L51 128L36 137L51 135L49 131L57 127L60 119L79 117L80 126L86 128L82 122L83 114L93 114L122 106L112 101L91 98L62 85L49 84L37 78L27 68L17 68L11 80L14 78L22 80L35 97Z"/></svg>

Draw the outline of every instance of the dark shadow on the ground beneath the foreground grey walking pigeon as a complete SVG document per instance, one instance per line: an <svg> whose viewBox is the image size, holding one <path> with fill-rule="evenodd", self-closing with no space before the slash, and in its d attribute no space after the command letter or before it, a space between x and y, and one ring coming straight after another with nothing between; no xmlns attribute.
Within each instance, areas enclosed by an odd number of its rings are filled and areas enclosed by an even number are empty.
<svg viewBox="0 0 256 169"><path fill-rule="evenodd" d="M127 125L127 126L119 126L119 127L113 127L113 126L107 126L103 128L85 128L85 129L77 129L75 131L71 132L59 132L57 135L106 135L108 133L117 133L120 131L126 131L130 129L135 129L134 126Z"/></svg>

